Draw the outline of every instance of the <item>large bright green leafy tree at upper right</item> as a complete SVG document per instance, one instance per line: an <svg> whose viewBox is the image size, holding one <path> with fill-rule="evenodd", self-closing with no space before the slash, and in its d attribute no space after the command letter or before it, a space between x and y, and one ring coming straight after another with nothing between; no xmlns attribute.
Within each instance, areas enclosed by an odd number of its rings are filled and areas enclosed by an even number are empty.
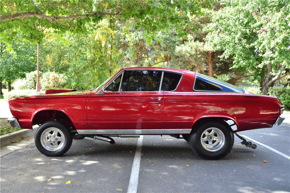
<svg viewBox="0 0 290 193"><path fill-rule="evenodd" d="M233 56L233 69L251 72L262 94L290 67L290 2L279 0L225 1L212 11L206 37L222 58Z"/></svg>

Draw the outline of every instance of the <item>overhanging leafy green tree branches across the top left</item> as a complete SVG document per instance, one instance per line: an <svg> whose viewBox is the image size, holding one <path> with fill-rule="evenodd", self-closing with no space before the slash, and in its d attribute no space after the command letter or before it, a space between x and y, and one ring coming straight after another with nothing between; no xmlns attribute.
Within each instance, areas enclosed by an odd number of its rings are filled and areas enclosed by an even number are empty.
<svg viewBox="0 0 290 193"><path fill-rule="evenodd" d="M18 31L26 38L41 42L50 29L58 33L71 31L86 33L96 29L95 24L103 19L134 21L137 28L143 27L147 38L154 37L160 29L168 30L175 25L177 32L185 36L188 25L186 13L201 14L207 1L9 1L0 3L1 36L11 42Z"/></svg>

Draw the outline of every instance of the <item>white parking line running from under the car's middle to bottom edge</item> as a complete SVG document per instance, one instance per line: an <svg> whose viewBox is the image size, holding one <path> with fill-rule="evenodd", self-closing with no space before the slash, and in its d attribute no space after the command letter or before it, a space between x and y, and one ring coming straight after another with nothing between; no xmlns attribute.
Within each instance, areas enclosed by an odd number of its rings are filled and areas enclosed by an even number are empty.
<svg viewBox="0 0 290 193"><path fill-rule="evenodd" d="M133 166L131 170L131 177L130 177L128 191L127 191L128 193L137 192L142 143L143 143L143 135L140 135L137 142L135 157L134 157Z"/></svg>

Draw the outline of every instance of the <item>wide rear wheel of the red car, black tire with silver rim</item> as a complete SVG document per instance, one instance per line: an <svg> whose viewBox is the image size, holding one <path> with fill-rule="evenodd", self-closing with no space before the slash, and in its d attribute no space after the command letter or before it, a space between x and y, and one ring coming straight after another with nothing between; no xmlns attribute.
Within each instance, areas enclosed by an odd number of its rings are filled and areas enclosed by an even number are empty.
<svg viewBox="0 0 290 193"><path fill-rule="evenodd" d="M233 148L234 134L223 122L204 122L189 138L191 149L203 159L221 159Z"/></svg>

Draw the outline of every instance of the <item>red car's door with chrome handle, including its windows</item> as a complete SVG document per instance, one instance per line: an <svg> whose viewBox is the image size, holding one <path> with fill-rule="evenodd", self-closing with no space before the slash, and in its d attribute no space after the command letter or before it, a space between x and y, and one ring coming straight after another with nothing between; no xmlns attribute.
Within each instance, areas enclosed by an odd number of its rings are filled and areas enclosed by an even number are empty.
<svg viewBox="0 0 290 193"><path fill-rule="evenodd" d="M90 130L162 129L162 71L127 70L100 95L88 96Z"/></svg>

